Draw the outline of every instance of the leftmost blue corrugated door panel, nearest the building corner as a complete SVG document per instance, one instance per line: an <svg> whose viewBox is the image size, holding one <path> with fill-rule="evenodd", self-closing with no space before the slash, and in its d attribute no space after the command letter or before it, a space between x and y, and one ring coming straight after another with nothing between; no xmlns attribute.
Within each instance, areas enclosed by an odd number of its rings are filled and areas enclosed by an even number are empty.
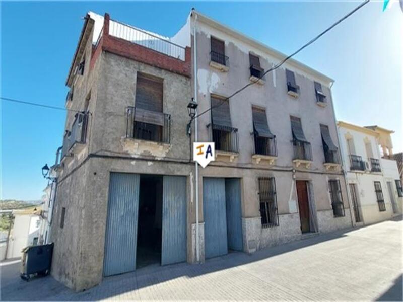
<svg viewBox="0 0 403 302"><path fill-rule="evenodd" d="M138 174L110 174L104 276L136 269L139 186Z"/></svg>

